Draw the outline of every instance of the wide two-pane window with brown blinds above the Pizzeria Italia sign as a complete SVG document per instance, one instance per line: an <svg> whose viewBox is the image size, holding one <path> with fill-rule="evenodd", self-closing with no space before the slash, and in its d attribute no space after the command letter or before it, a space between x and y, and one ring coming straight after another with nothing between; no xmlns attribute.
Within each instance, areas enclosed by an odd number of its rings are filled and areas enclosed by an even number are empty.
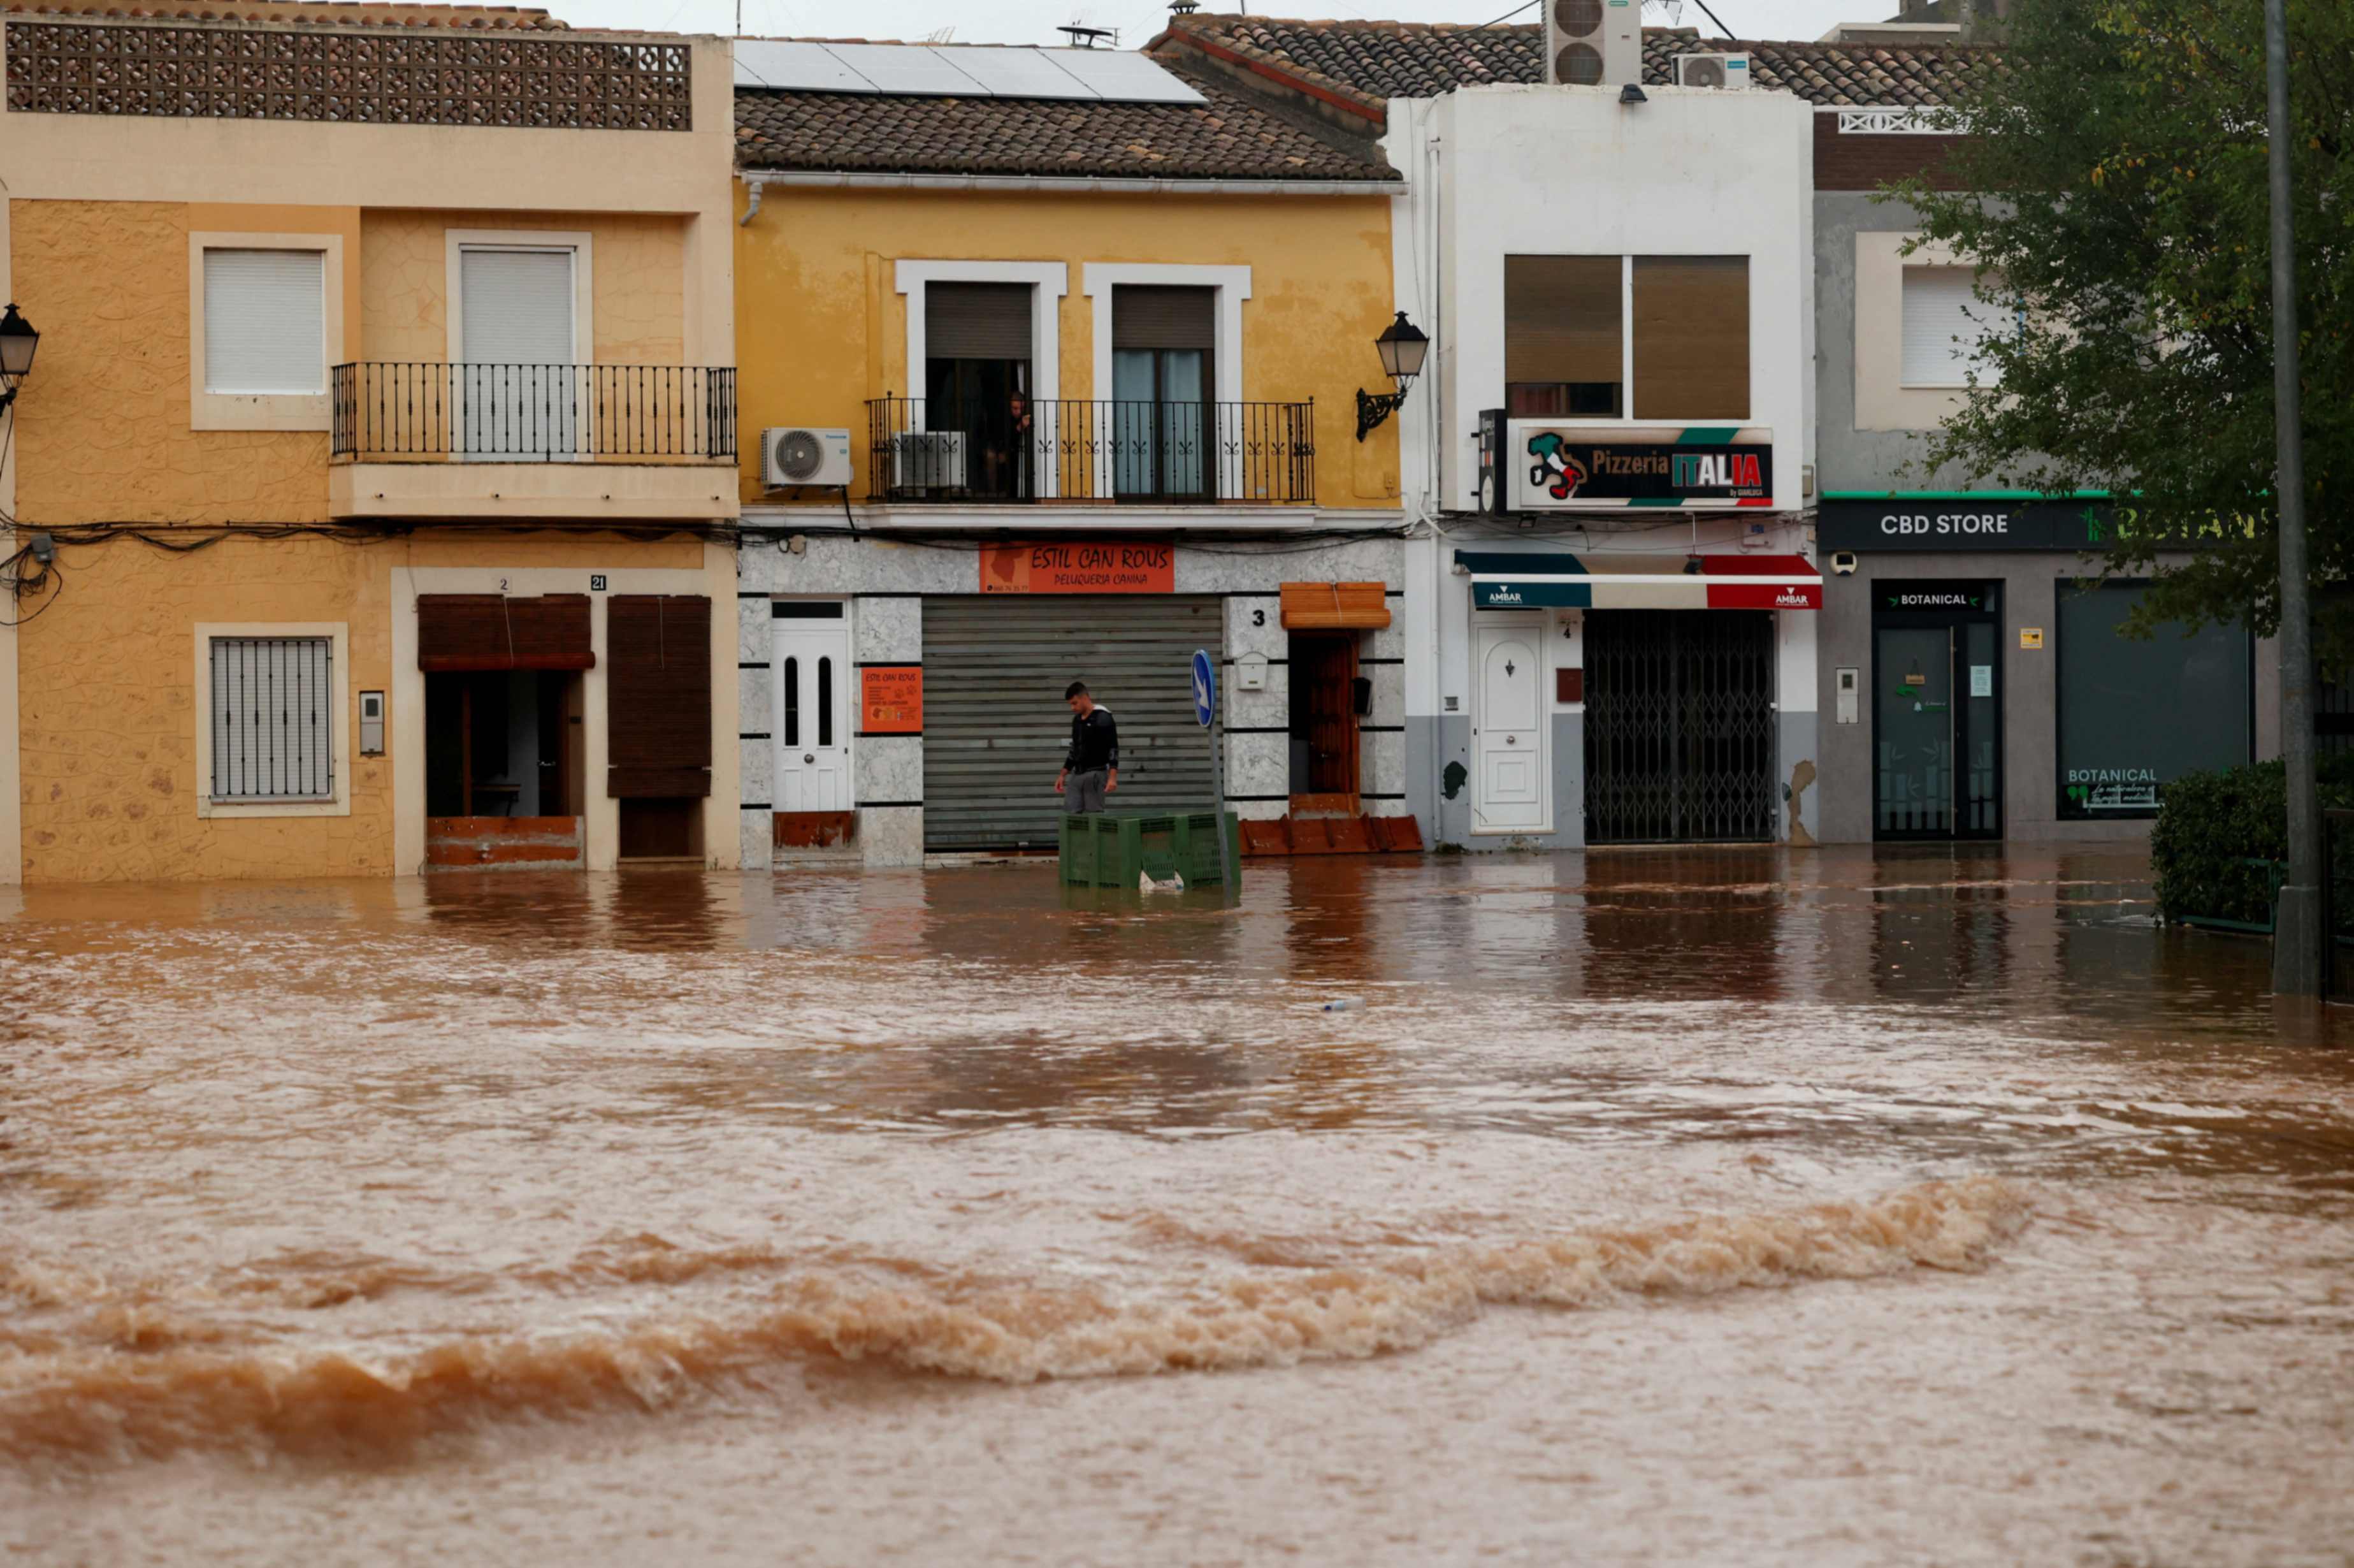
<svg viewBox="0 0 2354 1568"><path fill-rule="evenodd" d="M1516 419L1747 419L1749 257L1504 257Z"/></svg>

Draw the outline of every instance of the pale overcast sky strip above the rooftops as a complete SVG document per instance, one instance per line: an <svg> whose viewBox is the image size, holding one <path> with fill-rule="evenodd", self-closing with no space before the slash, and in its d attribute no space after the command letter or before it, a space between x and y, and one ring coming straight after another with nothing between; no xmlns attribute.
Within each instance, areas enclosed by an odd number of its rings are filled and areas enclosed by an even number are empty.
<svg viewBox="0 0 2354 1568"><path fill-rule="evenodd" d="M518 0L544 5L572 26L671 28L732 33L737 0ZM1384 21L1492 21L1511 0L1276 0L1236 7L1205 0L1205 12L1250 9L1274 16L1339 16ZM1895 0L1707 0L1740 38L1822 38L1834 21L1886 21ZM1650 21L1667 21L1653 5ZM1168 0L742 0L744 31L770 38L897 38L923 40L949 31L956 42L1062 42L1066 21L1118 28L1135 47L1168 19ZM1530 5L1518 21L1537 19ZM1683 26L1716 35L1700 0L1683 0Z"/></svg>

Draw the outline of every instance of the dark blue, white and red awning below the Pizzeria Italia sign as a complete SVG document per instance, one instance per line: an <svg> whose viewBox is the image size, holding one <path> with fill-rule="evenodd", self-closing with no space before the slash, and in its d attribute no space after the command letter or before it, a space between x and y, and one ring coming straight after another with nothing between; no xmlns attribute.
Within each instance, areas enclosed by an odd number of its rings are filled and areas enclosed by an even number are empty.
<svg viewBox="0 0 2354 1568"><path fill-rule="evenodd" d="M1455 551L1474 610L1822 610L1806 556Z"/></svg>

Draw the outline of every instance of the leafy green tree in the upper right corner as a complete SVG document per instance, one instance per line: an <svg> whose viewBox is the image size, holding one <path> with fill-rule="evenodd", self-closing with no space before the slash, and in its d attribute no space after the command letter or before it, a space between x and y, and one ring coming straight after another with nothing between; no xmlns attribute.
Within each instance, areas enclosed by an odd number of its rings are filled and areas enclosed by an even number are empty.
<svg viewBox="0 0 2354 1568"><path fill-rule="evenodd" d="M2354 5L2288 0L2307 525L2354 574ZM2109 490L2142 624L2279 626L2262 0L2024 0L1942 118L1949 179L1893 195L1980 264L1991 334L1926 450L2003 487ZM2126 499L2130 497L2130 499ZM2156 570L2166 546L2194 558ZM2316 593L2333 666L2354 603Z"/></svg>

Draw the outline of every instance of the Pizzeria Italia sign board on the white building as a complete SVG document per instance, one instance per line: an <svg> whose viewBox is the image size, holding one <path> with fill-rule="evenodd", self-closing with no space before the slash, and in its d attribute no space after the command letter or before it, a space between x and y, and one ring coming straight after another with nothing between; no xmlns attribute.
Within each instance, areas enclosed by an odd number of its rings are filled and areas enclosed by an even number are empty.
<svg viewBox="0 0 2354 1568"><path fill-rule="evenodd" d="M1575 506L1773 506L1773 431L1511 419L1511 511Z"/></svg>

